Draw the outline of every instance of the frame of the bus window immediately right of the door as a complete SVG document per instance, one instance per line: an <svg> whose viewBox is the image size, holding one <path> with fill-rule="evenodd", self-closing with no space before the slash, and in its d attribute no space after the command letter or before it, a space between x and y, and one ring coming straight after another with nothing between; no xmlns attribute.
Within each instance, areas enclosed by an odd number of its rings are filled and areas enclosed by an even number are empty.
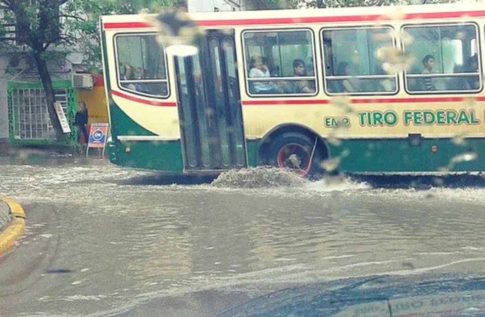
<svg viewBox="0 0 485 317"><path fill-rule="evenodd" d="M256 79L256 80L248 80L249 79L249 68L248 68L248 61L251 56L247 56L246 53L246 43L244 41L244 34L246 33L270 33L270 32L291 32L291 31L309 31L310 32L310 39L312 45L312 54L313 54L313 76L288 76L288 77L261 77L263 79ZM242 44L242 64L244 69L244 89L246 95L252 98L274 98L274 97L314 97L317 96L319 93L320 83L319 83L319 76L318 76L318 67L317 67L317 55L316 55L316 42L315 42L315 32L313 29L309 27L299 27L299 28L270 28L270 29L245 29L241 32L241 44ZM297 57L296 57L297 58ZM294 60L295 58L293 58ZM281 94L251 94L249 92L249 82L250 81L262 81L267 80L271 82L290 82L290 81L297 81L297 80L314 80L315 81L315 92L314 93L281 93Z"/></svg>

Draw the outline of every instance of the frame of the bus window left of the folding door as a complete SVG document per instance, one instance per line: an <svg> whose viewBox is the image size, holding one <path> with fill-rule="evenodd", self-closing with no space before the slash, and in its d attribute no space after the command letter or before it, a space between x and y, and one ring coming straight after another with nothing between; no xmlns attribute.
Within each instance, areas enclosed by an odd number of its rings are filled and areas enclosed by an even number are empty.
<svg viewBox="0 0 485 317"><path fill-rule="evenodd" d="M120 60L118 56L118 43L117 39L119 37L126 37L126 36L143 36L143 35L150 35L153 36L156 40L157 33L156 32L123 32L123 33L116 33L113 35L113 48L114 48L114 60L115 60L115 67L116 67L116 84L119 89L129 92L131 94L135 95L140 95L140 96L145 96L145 97L150 97L150 98L156 98L156 99L168 99L170 98L171 95L171 89L170 89L170 80L169 80L169 71L168 71L168 56L166 49L163 48L163 61L165 63L165 78L166 79L147 79L147 80L123 80L121 81L121 73L120 73ZM157 41L158 43L158 41ZM160 45L158 43L158 45ZM139 92L136 90L128 89L127 87L122 86L122 83L162 83L165 82L167 85L167 95L153 95L153 94L148 94L144 92Z"/></svg>

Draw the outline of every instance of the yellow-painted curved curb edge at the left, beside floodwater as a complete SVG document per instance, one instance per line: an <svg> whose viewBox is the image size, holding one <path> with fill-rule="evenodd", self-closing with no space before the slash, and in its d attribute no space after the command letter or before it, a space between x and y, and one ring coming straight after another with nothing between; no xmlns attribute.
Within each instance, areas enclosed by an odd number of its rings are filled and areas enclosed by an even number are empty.
<svg viewBox="0 0 485 317"><path fill-rule="evenodd" d="M25 212L19 203L0 196L0 201L7 204L12 214L12 221L0 233L0 254L12 248L13 243L25 230Z"/></svg>

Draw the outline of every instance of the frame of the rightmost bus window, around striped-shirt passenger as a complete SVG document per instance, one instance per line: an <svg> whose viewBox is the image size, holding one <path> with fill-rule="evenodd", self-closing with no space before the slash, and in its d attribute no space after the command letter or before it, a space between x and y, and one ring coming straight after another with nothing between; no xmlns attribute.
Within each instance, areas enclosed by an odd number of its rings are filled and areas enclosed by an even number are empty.
<svg viewBox="0 0 485 317"><path fill-rule="evenodd" d="M451 94L478 94L482 92L484 88L484 78L483 78L483 67L482 67L482 58L481 58L481 44L480 44L480 27L476 22L443 22L443 23L406 23L401 25L400 32L401 34L405 32L405 28L418 28L418 27L441 27L441 26L466 26L466 25L473 25L475 27L475 35L476 35L476 48L477 48L477 58L478 58L478 77L480 80L480 87L473 90L473 89L467 89L467 90L425 90L425 91L410 91L409 85L408 85L408 75L411 75L412 78L423 78L423 77L432 77L432 78L439 78L439 77L461 77L462 75L456 75L460 73L436 73L436 74L408 74L406 70L402 72L403 79L404 79L404 89L407 94L409 95L451 95ZM401 39L401 49L402 52L405 54L406 53L406 45L404 43L404 40ZM435 57L436 58L436 57ZM464 73L466 74L466 73ZM431 75L431 76L430 76ZM463 75L465 77L467 75ZM468 75L471 76L471 75ZM410 78L411 78L410 77Z"/></svg>

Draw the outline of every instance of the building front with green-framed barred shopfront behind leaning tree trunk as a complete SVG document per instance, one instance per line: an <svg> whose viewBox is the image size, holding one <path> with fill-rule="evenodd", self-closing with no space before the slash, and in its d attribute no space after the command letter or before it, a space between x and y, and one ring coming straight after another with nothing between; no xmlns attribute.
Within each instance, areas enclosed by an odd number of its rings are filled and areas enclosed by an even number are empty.
<svg viewBox="0 0 485 317"><path fill-rule="evenodd" d="M72 87L72 65L66 60L48 64L56 102L71 120L76 111L76 93ZM0 56L0 142L45 144L54 142L46 96L36 63L21 48ZM75 139L68 133L66 141Z"/></svg>

